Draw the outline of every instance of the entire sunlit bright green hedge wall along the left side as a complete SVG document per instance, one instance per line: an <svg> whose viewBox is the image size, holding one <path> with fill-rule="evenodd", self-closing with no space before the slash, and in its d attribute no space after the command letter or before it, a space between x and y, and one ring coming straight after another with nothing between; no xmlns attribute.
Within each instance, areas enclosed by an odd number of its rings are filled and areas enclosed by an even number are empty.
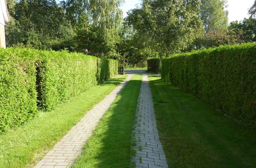
<svg viewBox="0 0 256 168"><path fill-rule="evenodd" d="M118 61L67 51L0 49L0 132L117 74Z"/></svg>

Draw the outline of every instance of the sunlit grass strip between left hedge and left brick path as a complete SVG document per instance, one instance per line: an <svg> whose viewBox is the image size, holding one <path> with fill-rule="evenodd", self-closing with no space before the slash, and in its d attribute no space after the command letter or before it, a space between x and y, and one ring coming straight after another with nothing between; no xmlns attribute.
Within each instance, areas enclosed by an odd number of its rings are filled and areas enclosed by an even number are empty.
<svg viewBox="0 0 256 168"><path fill-rule="evenodd" d="M55 110L0 135L0 167L33 167L87 113L127 76L116 76Z"/></svg>

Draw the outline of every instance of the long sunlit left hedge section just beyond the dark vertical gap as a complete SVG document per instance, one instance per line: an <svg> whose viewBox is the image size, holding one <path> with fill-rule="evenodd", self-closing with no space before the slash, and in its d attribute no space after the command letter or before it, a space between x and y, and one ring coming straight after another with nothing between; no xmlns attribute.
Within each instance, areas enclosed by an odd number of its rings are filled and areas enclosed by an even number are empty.
<svg viewBox="0 0 256 168"><path fill-rule="evenodd" d="M60 102L97 85L97 58L67 51L40 51L38 100L51 110Z"/></svg>

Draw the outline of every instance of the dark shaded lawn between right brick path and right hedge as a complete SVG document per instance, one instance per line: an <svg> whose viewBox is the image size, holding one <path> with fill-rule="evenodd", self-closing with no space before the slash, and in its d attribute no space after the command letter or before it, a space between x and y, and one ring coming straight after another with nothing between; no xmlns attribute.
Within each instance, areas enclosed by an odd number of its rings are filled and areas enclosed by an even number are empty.
<svg viewBox="0 0 256 168"><path fill-rule="evenodd" d="M256 167L256 133L150 76L157 128L170 167Z"/></svg>

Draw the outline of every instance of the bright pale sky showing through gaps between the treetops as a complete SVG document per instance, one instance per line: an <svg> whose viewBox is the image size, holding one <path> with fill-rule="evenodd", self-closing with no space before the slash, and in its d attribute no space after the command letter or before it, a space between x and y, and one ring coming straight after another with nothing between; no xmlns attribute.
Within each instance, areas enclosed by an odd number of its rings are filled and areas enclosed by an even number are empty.
<svg viewBox="0 0 256 168"><path fill-rule="evenodd" d="M248 9L253 5L254 0L228 0L227 1L227 10L228 20L236 21L236 20L243 20L244 17L248 18ZM125 0L125 3L121 7L123 10L123 16L126 17L126 12L136 8L136 5L140 4L140 0Z"/></svg>

